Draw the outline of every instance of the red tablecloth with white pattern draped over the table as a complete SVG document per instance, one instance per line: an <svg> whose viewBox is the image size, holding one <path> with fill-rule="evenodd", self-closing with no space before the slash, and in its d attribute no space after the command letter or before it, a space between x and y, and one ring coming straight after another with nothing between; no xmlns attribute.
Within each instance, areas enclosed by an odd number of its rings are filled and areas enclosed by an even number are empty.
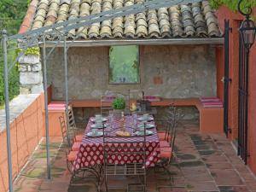
<svg viewBox="0 0 256 192"><path fill-rule="evenodd" d="M90 125L93 124L92 118L90 118L88 125L85 128L84 131L84 137L82 140L82 143L79 148L79 153L77 154L77 158L74 161L73 169L79 170L86 166L95 166L96 164L103 164L104 157L103 157L103 137L87 137L86 134L90 132ZM126 124L131 125L132 118L131 116L126 117ZM154 122L151 122L154 124ZM114 125L118 125L119 121L114 121ZM129 125L126 125L126 127L129 127ZM126 129L126 131L129 131L129 129ZM160 160L160 148L159 148L159 138L157 136L156 128L150 129L150 131L153 131L153 134L146 137L146 166L155 166L155 164ZM124 137L121 137L120 139L124 139ZM137 142L136 137L127 137L125 138L125 143L127 140L132 144L136 144L134 142ZM115 148L119 148L124 143L114 143L113 146ZM129 144L129 143L128 143ZM139 148L138 148L139 150ZM141 155L138 154L130 154L126 156L118 156L118 155L112 155L109 157L110 163L115 164L125 164L125 163L139 163L143 160Z"/></svg>

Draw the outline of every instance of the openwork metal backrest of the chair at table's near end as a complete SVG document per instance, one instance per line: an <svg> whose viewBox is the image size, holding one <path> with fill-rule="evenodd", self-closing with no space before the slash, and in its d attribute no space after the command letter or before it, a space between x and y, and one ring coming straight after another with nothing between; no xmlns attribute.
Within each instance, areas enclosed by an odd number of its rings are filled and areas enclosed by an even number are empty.
<svg viewBox="0 0 256 192"><path fill-rule="evenodd" d="M144 125L145 126L145 125ZM112 155L120 156L127 159L131 155L139 155L139 162L134 158L131 163L140 163L144 166L146 163L146 129L144 128L141 136L134 135L137 131L135 128L126 127L131 132L131 136L116 136L116 132L122 130L120 126L108 127L103 129L103 151L105 165L118 164L118 160L113 160ZM127 163L125 163L127 164Z"/></svg>

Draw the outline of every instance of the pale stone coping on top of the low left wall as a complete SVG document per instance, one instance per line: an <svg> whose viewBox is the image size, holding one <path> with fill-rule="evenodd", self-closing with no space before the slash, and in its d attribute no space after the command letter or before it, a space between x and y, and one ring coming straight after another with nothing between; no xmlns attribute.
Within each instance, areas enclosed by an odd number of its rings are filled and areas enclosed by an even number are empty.
<svg viewBox="0 0 256 192"><path fill-rule="evenodd" d="M38 96L40 96L40 94L19 95L9 102L10 123L12 123L20 113L23 113L26 108L38 98ZM5 131L5 128L5 108L3 108L0 109L0 133Z"/></svg>

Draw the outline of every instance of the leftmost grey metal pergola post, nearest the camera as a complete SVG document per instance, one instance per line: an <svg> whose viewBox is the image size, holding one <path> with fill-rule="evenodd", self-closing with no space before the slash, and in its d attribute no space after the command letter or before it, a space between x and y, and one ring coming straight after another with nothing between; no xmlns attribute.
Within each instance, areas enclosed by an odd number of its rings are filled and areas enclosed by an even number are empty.
<svg viewBox="0 0 256 192"><path fill-rule="evenodd" d="M5 124L7 134L7 154L8 154L8 176L9 192L13 192L13 167L12 150L10 144L10 125L9 125L9 78L8 78L8 57L7 57L7 31L3 30L3 77L4 77L4 102L5 102Z"/></svg>

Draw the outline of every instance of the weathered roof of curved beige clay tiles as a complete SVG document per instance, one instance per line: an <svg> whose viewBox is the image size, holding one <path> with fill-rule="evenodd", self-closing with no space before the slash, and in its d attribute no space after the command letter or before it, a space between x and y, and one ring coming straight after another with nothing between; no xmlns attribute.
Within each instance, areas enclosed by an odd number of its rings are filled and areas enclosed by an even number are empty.
<svg viewBox="0 0 256 192"><path fill-rule="evenodd" d="M102 11L143 3L144 0L38 0L32 29ZM104 20L68 32L77 38L219 37L218 20L208 1L151 9L137 15Z"/></svg>

